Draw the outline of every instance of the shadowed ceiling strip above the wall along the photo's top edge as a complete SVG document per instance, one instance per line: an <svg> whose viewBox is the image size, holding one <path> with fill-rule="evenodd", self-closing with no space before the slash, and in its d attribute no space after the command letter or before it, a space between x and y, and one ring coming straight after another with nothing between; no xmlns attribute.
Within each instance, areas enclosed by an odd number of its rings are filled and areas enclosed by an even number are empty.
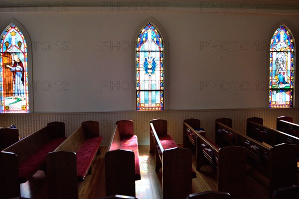
<svg viewBox="0 0 299 199"><path fill-rule="evenodd" d="M67 6L107 6L107 4L121 5L122 3L138 5L147 3L155 6L160 5L169 7L213 7L213 6L263 6L273 9L295 9L299 10L299 0L5 0L0 2L0 7L37 6L42 3L49 3L53 6L58 2ZM162 4L161 4L162 3Z"/></svg>

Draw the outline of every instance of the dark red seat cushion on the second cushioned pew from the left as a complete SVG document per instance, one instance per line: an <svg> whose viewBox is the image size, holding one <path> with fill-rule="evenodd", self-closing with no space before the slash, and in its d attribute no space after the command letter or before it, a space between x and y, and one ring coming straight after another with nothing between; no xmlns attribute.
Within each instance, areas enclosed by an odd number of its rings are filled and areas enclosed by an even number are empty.
<svg viewBox="0 0 299 199"><path fill-rule="evenodd" d="M93 158L102 142L102 139L103 137L101 136L86 139L76 152L78 181L83 181L84 177L86 176Z"/></svg>

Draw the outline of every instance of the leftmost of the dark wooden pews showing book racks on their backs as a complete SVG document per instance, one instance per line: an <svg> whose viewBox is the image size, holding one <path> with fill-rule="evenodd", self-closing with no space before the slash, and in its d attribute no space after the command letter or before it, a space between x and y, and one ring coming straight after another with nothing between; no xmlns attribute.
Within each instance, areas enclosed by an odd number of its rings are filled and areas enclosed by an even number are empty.
<svg viewBox="0 0 299 199"><path fill-rule="evenodd" d="M204 165L217 168L217 191L228 192L234 197L241 197L246 190L246 150L244 147L219 147L206 136L201 135L186 122L184 130L195 137L196 170Z"/></svg>

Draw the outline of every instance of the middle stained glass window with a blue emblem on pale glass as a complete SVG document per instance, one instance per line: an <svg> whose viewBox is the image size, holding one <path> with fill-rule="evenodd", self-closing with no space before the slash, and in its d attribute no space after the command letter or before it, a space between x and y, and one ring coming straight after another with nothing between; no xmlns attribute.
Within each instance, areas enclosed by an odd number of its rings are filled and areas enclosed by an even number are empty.
<svg viewBox="0 0 299 199"><path fill-rule="evenodd" d="M147 24L136 44L137 110L163 110L164 62L163 40L158 30Z"/></svg>

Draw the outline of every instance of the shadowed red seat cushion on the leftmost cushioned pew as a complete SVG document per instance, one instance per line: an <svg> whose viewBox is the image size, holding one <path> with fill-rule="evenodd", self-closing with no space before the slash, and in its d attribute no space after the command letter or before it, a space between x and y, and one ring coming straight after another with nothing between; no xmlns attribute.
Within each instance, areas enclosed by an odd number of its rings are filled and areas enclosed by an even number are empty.
<svg viewBox="0 0 299 199"><path fill-rule="evenodd" d="M49 152L58 147L66 138L56 138L46 143L40 150L19 165L19 182L26 182L41 166L46 163Z"/></svg>

